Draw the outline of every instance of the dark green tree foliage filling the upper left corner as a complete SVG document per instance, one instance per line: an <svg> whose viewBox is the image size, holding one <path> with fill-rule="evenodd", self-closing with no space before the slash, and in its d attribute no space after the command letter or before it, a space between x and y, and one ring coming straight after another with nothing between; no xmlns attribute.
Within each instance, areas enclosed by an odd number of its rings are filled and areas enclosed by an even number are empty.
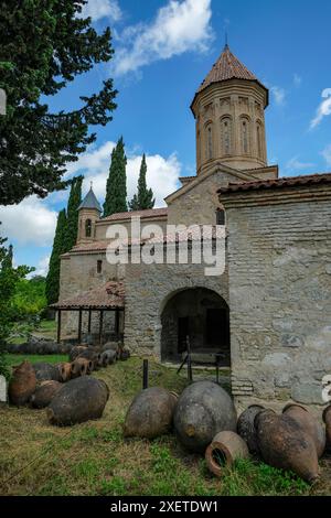
<svg viewBox="0 0 331 518"><path fill-rule="evenodd" d="M93 125L105 126L116 108L113 80L81 96L81 107L52 112L47 98L95 64L111 60L109 28L100 34L82 17L86 0L2 0L0 88L0 205L63 188L66 164L95 141Z"/></svg>

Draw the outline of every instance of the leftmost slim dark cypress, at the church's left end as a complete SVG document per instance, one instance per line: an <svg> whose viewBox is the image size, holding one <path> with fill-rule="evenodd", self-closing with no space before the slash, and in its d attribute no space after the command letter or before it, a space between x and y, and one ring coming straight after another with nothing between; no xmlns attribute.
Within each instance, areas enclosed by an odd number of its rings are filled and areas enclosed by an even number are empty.
<svg viewBox="0 0 331 518"><path fill-rule="evenodd" d="M47 304L54 304L58 301L60 293L60 256L66 251L65 242L67 235L67 219L65 208L60 211L53 250L50 259L50 269L46 277L46 299Z"/></svg>

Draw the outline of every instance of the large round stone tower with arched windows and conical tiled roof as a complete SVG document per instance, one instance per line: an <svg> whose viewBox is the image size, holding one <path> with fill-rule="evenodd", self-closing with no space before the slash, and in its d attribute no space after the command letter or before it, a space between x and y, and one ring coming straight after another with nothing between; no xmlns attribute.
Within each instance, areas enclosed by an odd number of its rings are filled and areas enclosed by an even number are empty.
<svg viewBox="0 0 331 518"><path fill-rule="evenodd" d="M191 105L197 174L220 162L238 170L266 166L267 106L268 89L226 44Z"/></svg>

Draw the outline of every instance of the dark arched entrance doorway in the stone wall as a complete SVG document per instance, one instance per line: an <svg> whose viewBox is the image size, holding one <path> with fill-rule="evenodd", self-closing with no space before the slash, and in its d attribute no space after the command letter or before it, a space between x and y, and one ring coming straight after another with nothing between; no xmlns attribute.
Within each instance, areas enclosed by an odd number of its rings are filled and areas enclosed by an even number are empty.
<svg viewBox="0 0 331 518"><path fill-rule="evenodd" d="M190 288L174 293L161 313L161 359L180 361L186 350L222 353L221 365L229 366L228 305L212 290Z"/></svg>

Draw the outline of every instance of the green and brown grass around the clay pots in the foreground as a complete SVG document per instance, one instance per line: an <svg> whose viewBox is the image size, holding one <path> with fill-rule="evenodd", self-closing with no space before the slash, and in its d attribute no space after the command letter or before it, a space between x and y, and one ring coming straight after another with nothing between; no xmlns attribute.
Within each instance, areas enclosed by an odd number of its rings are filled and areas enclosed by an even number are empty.
<svg viewBox="0 0 331 518"><path fill-rule="evenodd" d="M11 365L22 357L10 356ZM31 360L50 357L30 357ZM63 357L53 357L58 361ZM331 466L308 486L296 476L256 461L239 462L214 478L203 456L189 454L172 434L154 441L124 440L121 424L141 388L141 359L95 373L110 388L104 416L72 428L51 427L45 410L0 408L1 495L330 495ZM175 370L150 363L150 386L180 392Z"/></svg>

